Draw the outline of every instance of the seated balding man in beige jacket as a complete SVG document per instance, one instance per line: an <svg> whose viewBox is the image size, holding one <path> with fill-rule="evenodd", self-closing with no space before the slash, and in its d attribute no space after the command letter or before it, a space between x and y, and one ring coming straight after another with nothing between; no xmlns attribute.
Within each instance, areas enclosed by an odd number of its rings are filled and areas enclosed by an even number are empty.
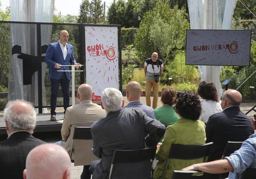
<svg viewBox="0 0 256 179"><path fill-rule="evenodd" d="M92 97L94 96L93 88L88 84L82 84L78 87L77 98L79 104L68 107L63 120L61 128L62 142L60 143L68 153L71 152L71 145L73 141L73 132L76 126L90 127L95 121L104 118L106 112L100 105L93 103ZM95 160L94 154L91 152L92 141L82 141L83 150L81 153L76 151L75 155L72 153L71 159L74 160L74 165L84 165L84 171L81 174L81 179L90 179L89 166Z"/></svg>

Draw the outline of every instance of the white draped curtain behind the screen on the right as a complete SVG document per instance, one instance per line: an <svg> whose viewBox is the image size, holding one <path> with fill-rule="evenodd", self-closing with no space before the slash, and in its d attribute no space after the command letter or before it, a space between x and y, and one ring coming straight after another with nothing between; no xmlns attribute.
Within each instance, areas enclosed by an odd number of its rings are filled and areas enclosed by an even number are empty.
<svg viewBox="0 0 256 179"><path fill-rule="evenodd" d="M225 29L229 30L237 0L188 0L191 29ZM210 80L219 89L219 74L222 66L198 66L201 81Z"/></svg>

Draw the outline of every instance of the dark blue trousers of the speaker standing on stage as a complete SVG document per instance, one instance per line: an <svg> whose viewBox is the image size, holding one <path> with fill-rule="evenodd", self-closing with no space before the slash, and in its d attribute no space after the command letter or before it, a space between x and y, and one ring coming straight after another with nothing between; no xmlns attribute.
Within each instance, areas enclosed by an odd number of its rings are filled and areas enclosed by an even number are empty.
<svg viewBox="0 0 256 179"><path fill-rule="evenodd" d="M68 80L66 73L63 72L63 75L61 79L56 80L51 78L51 115L56 115L55 109L57 105L57 95L59 91L59 84L62 88L62 94L63 94L63 106L64 106L64 113L66 112L66 109L69 107L69 83L70 80Z"/></svg>

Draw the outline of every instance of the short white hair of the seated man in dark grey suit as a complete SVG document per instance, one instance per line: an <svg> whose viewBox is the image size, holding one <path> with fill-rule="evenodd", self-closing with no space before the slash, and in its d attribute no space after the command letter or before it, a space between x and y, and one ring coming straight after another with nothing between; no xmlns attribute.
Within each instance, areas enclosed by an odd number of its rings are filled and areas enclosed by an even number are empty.
<svg viewBox="0 0 256 179"><path fill-rule="evenodd" d="M101 102L107 112L115 112L121 109L123 101L122 93L113 87L104 89Z"/></svg>

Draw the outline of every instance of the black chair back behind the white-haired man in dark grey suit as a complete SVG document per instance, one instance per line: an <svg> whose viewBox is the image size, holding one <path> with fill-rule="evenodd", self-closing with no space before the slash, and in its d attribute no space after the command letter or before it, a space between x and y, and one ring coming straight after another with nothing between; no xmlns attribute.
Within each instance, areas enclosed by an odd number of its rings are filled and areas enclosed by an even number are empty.
<svg viewBox="0 0 256 179"><path fill-rule="evenodd" d="M110 167L109 179L112 177L115 164L137 163L148 160L150 161L149 169L152 171L152 164L155 159L156 150L156 146L142 149L115 150Z"/></svg>

